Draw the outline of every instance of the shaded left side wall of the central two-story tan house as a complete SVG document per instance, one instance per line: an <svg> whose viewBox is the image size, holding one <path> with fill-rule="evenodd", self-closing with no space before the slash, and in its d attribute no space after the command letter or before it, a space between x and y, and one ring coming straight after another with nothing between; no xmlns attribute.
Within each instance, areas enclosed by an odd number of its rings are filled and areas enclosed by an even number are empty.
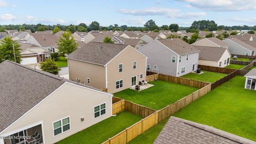
<svg viewBox="0 0 256 144"><path fill-rule="evenodd" d="M93 63L68 59L69 79L76 81L80 79L80 83L95 87L97 89L106 88L106 68L104 66ZM91 83L87 83L90 78Z"/></svg>

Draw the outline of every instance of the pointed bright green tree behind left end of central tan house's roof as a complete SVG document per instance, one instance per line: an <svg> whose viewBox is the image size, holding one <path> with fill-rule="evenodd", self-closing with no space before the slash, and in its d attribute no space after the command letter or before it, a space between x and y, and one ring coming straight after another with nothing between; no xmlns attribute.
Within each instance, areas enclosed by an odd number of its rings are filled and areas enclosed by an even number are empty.
<svg viewBox="0 0 256 144"><path fill-rule="evenodd" d="M62 34L57 45L60 54L70 54L77 49L77 43L69 30Z"/></svg>

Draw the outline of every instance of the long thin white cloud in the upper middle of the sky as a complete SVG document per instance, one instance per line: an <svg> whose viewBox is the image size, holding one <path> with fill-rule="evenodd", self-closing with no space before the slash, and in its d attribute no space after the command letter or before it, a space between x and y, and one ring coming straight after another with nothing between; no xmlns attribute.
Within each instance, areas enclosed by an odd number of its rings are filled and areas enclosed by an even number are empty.
<svg viewBox="0 0 256 144"><path fill-rule="evenodd" d="M119 12L123 14L131 14L131 15L142 15L142 16L148 16L148 15L162 15L166 16L168 18L198 18L205 16L206 13L204 12L189 12L189 13L183 13L179 9L167 9L163 7L150 7L148 9L140 9L140 10L127 10L127 9L121 9Z"/></svg>

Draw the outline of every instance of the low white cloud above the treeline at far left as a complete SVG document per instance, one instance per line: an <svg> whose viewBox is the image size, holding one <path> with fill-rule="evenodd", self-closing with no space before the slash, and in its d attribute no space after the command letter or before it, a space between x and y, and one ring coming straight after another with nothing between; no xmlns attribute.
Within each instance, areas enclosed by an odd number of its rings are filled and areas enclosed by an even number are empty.
<svg viewBox="0 0 256 144"><path fill-rule="evenodd" d="M12 21L13 23L65 23L64 20L62 19L45 19L45 18L36 18L30 15L27 15L25 17L18 17L12 14L0 14L0 22L5 22L5 21Z"/></svg>

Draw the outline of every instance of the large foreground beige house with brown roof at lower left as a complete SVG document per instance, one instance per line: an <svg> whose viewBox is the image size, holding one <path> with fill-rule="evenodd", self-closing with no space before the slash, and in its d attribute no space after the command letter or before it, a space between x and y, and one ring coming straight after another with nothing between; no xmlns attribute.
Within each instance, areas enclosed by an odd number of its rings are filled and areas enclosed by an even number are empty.
<svg viewBox="0 0 256 144"><path fill-rule="evenodd" d="M112 116L112 94L44 71L6 60L0 81L0 144L56 143Z"/></svg>

